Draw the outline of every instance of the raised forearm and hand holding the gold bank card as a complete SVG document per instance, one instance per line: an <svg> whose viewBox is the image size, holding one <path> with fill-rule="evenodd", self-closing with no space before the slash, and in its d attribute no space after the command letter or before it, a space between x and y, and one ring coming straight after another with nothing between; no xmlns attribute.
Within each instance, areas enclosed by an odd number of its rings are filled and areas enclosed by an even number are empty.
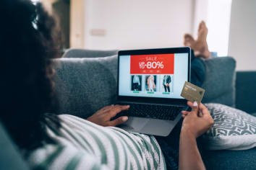
<svg viewBox="0 0 256 170"><path fill-rule="evenodd" d="M179 170L205 169L196 138L210 129L213 119L203 104L198 106L197 102L187 102L187 105L192 111L182 111L184 120L179 140Z"/></svg>

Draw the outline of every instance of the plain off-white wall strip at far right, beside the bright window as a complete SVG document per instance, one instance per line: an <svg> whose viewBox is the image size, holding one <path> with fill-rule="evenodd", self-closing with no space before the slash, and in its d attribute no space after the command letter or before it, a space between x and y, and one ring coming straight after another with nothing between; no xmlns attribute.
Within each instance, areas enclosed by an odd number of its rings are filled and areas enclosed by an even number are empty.
<svg viewBox="0 0 256 170"><path fill-rule="evenodd" d="M256 1L233 0L229 55L237 70L256 70Z"/></svg>

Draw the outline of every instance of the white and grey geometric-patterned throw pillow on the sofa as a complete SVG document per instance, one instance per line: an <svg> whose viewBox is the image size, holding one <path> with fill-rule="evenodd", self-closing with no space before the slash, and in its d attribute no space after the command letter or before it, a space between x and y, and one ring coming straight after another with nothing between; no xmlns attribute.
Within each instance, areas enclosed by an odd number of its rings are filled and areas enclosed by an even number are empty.
<svg viewBox="0 0 256 170"><path fill-rule="evenodd" d="M214 125L202 136L209 150L244 150L256 146L256 117L223 104L205 104Z"/></svg>

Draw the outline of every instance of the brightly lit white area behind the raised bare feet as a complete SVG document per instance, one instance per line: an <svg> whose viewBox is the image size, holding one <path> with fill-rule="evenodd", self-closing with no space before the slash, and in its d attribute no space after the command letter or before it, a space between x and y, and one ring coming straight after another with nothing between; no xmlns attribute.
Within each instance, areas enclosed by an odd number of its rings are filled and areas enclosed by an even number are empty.
<svg viewBox="0 0 256 170"><path fill-rule="evenodd" d="M193 35L203 20L208 27L208 48L218 56L226 56L229 48L229 26L232 0L195 0Z"/></svg>

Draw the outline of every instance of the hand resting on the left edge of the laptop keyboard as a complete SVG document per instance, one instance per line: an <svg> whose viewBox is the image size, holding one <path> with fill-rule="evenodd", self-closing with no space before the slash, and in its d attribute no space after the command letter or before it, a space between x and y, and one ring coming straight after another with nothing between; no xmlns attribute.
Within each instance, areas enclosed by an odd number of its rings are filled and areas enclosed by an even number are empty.
<svg viewBox="0 0 256 170"><path fill-rule="evenodd" d="M98 110L92 116L88 117L88 121L94 122L97 125L101 126L116 126L124 123L128 120L127 116L119 117L115 120L111 120L112 117L115 117L122 110L129 109L129 106L121 106L121 105L111 105L107 107L103 107Z"/></svg>

